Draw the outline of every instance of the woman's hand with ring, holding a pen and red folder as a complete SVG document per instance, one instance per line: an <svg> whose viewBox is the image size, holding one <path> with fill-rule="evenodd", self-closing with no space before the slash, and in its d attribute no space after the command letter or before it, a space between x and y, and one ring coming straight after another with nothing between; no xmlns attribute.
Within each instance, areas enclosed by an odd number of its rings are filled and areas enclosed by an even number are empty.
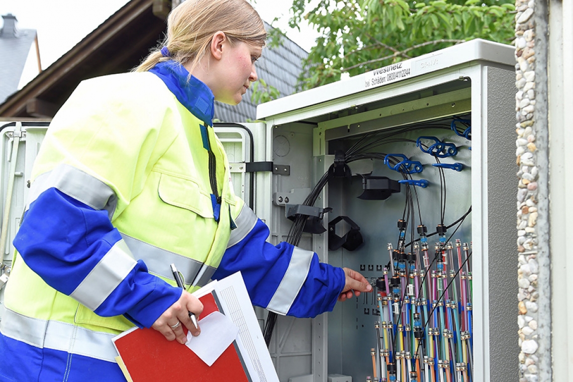
<svg viewBox="0 0 573 382"><path fill-rule="evenodd" d="M183 325L193 334L193 336L198 336L201 333L201 329L195 328L193 322L189 318L189 312L195 313L195 316L199 317L199 314L203 312L203 304L199 299L193 296L186 290L182 290L181 297L179 300L175 301L157 320L151 325L168 341L173 341L175 338L181 344L187 342L187 336L183 332Z"/></svg>

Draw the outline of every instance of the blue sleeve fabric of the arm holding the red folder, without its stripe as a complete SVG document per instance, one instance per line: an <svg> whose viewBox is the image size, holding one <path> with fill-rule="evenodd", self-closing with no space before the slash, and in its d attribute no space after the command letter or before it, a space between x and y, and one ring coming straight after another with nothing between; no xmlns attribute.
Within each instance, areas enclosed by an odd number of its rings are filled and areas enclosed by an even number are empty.
<svg viewBox="0 0 573 382"><path fill-rule="evenodd" d="M122 240L107 211L50 188L30 205L14 247L30 269L69 296ZM131 271L110 289L94 312L107 317L123 314L140 327L150 327L181 294L135 260Z"/></svg>

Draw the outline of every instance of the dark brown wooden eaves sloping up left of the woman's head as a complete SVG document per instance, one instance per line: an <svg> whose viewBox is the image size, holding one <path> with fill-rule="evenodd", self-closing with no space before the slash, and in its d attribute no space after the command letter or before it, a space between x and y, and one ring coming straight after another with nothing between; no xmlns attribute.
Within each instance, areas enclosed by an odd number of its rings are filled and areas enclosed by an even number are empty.
<svg viewBox="0 0 573 382"><path fill-rule="evenodd" d="M0 105L0 117L53 117L80 81L127 72L162 40L154 0L132 0Z"/></svg>

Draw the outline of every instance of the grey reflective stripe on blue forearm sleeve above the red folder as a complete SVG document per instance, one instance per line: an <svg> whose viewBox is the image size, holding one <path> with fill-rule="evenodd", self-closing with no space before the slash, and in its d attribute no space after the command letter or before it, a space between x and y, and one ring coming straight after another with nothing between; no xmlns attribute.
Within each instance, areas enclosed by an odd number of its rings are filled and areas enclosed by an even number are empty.
<svg viewBox="0 0 573 382"><path fill-rule="evenodd" d="M136 264L127 244L120 240L93 267L70 297L96 310Z"/></svg>

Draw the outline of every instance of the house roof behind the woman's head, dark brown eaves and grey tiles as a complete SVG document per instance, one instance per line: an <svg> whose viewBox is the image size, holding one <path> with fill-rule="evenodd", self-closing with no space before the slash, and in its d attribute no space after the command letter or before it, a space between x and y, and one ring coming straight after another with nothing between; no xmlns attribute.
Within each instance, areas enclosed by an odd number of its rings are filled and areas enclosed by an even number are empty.
<svg viewBox="0 0 573 382"><path fill-rule="evenodd" d="M54 116L80 81L104 74L128 72L163 40L166 0L131 0L97 29L60 57L21 90L0 104L0 119ZM269 27L268 25L266 25ZM257 67L259 78L276 87L281 96L292 94L308 53L287 38L279 48L265 49ZM251 89L237 106L215 105L215 118L245 122L256 118Z"/></svg>

